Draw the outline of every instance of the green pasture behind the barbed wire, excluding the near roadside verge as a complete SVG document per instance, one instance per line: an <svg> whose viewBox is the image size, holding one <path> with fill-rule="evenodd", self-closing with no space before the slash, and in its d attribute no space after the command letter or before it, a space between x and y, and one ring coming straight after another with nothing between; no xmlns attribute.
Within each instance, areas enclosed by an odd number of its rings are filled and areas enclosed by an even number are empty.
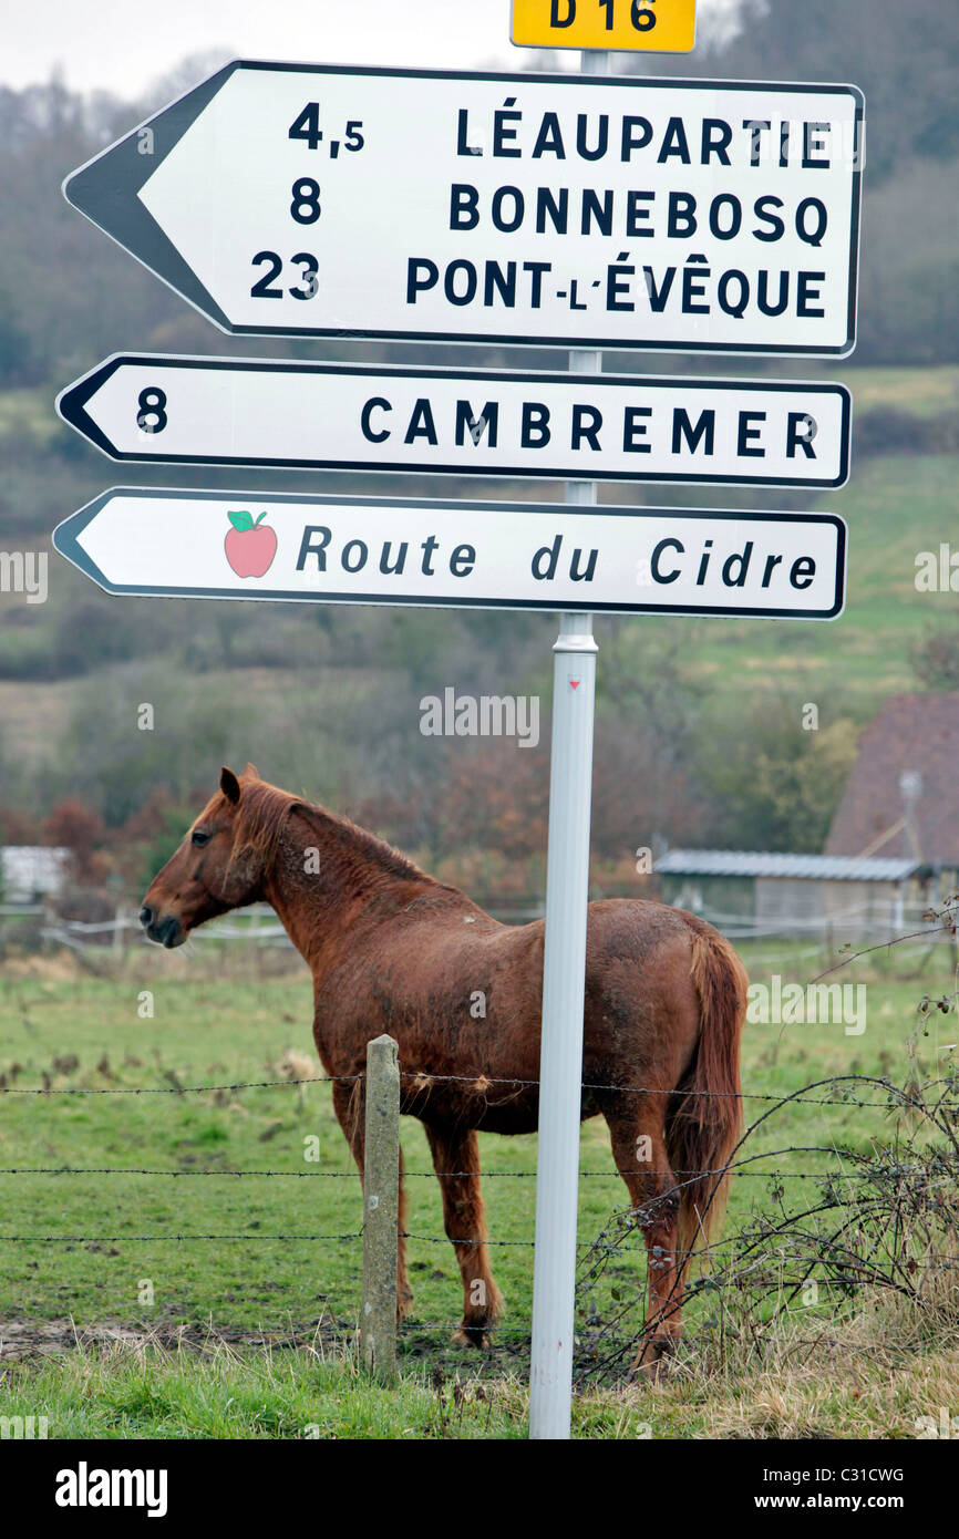
<svg viewBox="0 0 959 1539"><path fill-rule="evenodd" d="M868 971L853 963L836 974L840 982L867 977L860 1036L847 1034L842 1022L750 1025L743 1087L757 1097L747 1102L750 1120L768 1107L760 1097L833 1074L902 1083L916 1000L948 986L947 948L937 950L942 956L922 977L897 976L882 954ZM805 982L822 965L819 953L782 943L777 951L776 942L753 951L754 982L773 971ZM325 1320L348 1328L360 1287L360 1197L329 1087L186 1088L280 1079L283 1051L311 1048L308 979L231 982L217 976L209 953L197 951L160 962L123 979L8 976L0 983L0 1073L14 1090L42 1087L46 1076L52 1090L162 1091L0 1097L0 1322L69 1316L79 1327L112 1320L285 1333ZM139 1016L145 990L154 996L152 1019ZM941 1040L917 1043L930 1071L950 1060L956 1036L954 1019L937 1019ZM882 1093L865 1099L882 1100ZM891 1130L882 1105L794 1103L764 1123L748 1153L831 1142L865 1153ZM319 1139L319 1162L305 1157L308 1147L316 1150L311 1139ZM459 1317L460 1284L426 1140L413 1119L403 1119L403 1154L408 1228L417 1236L409 1242L416 1305L403 1344L417 1354L443 1347ZM531 1251L522 1242L533 1239L536 1137L483 1136L482 1160L490 1234L508 1242L493 1248L508 1304L497 1350L508 1356L525 1345L530 1322ZM35 1167L171 1174L6 1174ZM582 1168L590 1174L580 1183L579 1234L588 1245L627 1205L599 1119L583 1125ZM825 1154L773 1154L734 1183L727 1222L742 1224L774 1203L773 1171L787 1173L791 1199L804 1183L796 1173L842 1168ZM237 1170L251 1174L226 1174ZM274 1174L252 1174L259 1171ZM206 1234L231 1239L189 1237ZM14 1244L8 1236L31 1239ZM630 1296L642 1267L640 1251L623 1253L590 1302L608 1307L611 1288ZM142 1302L146 1284L152 1304Z"/></svg>

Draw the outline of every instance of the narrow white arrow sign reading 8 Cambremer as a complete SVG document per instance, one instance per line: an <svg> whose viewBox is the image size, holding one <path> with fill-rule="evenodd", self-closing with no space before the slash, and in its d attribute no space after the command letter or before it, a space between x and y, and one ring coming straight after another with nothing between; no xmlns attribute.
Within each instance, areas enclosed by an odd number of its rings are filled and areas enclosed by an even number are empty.
<svg viewBox="0 0 959 1539"><path fill-rule="evenodd" d="M57 400L114 460L842 486L845 385L117 354Z"/></svg>

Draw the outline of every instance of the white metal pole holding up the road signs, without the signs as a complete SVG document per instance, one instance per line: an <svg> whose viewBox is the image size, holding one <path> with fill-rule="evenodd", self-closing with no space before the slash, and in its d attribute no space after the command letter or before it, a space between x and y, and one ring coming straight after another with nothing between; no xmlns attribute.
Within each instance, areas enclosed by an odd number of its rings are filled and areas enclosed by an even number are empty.
<svg viewBox="0 0 959 1539"><path fill-rule="evenodd" d="M583 74L610 72L603 51ZM570 372L600 374L602 352L570 354ZM596 502L596 482L568 482L566 502ZM563 614L553 648L553 749L546 846L546 937L536 1159L536 1260L530 1437L570 1437L579 1128L590 899L590 810L596 640L591 614Z"/></svg>

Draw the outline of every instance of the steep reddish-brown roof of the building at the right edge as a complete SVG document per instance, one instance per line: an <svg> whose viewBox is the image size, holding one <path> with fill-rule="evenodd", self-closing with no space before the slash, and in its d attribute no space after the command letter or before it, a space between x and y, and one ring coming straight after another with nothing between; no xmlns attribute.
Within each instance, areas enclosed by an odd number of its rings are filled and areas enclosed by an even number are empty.
<svg viewBox="0 0 959 1539"><path fill-rule="evenodd" d="M959 883L959 694L894 694L859 739L830 856L930 868L930 899Z"/></svg>

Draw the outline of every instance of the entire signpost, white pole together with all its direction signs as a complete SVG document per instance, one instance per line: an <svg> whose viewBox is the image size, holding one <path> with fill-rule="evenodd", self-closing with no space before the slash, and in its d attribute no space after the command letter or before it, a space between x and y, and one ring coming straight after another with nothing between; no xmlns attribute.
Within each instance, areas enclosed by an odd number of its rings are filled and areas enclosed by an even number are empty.
<svg viewBox="0 0 959 1539"><path fill-rule="evenodd" d="M117 460L565 479L565 505L114 488L54 545L108 593L551 609L531 1437L568 1437L594 613L836 617L833 514L596 506L596 480L842 486L833 383L599 349L847 356L854 86L606 77L693 0L514 0L582 75L237 62L65 183L223 331L570 348L568 374L117 354L58 409ZM602 78L597 78L602 77Z"/></svg>

